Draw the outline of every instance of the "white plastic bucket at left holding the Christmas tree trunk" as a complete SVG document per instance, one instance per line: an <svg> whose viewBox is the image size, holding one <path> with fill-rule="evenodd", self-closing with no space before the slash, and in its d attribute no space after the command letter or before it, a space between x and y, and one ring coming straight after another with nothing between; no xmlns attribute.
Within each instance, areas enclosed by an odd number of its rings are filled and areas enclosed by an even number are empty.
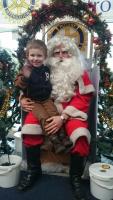
<svg viewBox="0 0 113 200"><path fill-rule="evenodd" d="M11 166L1 166L3 163L8 162L8 156L3 155L0 157L0 187L10 188L14 187L19 182L20 165L22 158L17 155L10 155L10 162L14 163Z"/></svg>

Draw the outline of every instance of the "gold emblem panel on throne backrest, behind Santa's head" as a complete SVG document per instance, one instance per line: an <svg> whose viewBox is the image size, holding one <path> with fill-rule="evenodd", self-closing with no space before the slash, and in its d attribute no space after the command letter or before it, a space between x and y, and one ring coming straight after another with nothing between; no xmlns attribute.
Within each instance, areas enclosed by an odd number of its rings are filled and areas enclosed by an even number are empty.
<svg viewBox="0 0 113 200"><path fill-rule="evenodd" d="M53 37L53 35L68 36L75 40L75 43L80 48L80 50L86 54L88 48L88 30L86 27L79 22L73 21L62 21L55 23L47 31L47 39Z"/></svg>

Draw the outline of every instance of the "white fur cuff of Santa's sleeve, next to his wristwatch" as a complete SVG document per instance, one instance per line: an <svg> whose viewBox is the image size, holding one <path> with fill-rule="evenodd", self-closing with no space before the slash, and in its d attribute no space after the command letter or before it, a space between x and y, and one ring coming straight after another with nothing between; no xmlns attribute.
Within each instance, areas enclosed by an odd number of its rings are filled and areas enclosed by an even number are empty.
<svg viewBox="0 0 113 200"><path fill-rule="evenodd" d="M69 115L70 117L76 117L80 118L81 120L85 121L87 120L88 116L86 113L82 112L81 110L78 110L77 108L73 106L67 106L62 113L65 113Z"/></svg>

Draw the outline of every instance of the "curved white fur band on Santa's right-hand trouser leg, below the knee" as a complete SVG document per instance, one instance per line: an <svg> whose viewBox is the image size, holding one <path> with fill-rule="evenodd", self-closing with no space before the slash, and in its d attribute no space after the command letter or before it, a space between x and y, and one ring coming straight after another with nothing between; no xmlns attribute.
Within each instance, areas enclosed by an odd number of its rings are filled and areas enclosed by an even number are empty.
<svg viewBox="0 0 113 200"><path fill-rule="evenodd" d="M86 136L88 143L90 143L91 140L91 135L90 132L87 128L77 128L74 130L70 136L70 140L73 142L73 144L76 143L77 139L80 138L81 136Z"/></svg>

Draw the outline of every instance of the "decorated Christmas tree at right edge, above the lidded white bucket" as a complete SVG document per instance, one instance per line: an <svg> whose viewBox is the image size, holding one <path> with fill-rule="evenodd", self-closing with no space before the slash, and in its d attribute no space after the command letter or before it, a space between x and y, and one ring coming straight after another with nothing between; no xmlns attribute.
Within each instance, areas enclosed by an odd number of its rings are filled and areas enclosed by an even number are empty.
<svg viewBox="0 0 113 200"><path fill-rule="evenodd" d="M113 72L101 70L98 97L99 154L113 153Z"/></svg>

